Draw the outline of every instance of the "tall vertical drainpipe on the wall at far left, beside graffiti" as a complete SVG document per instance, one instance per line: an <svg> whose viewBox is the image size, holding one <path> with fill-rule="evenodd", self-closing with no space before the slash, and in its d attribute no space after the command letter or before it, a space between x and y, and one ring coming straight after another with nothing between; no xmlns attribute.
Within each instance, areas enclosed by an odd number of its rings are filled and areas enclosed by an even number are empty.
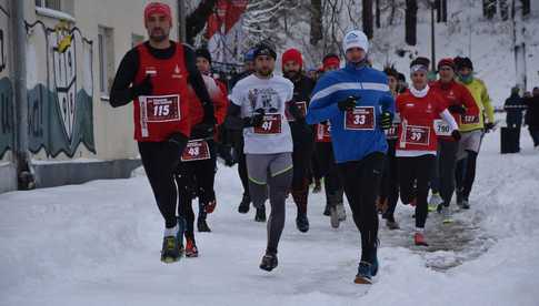
<svg viewBox="0 0 539 306"><path fill-rule="evenodd" d="M14 84L14 157L19 190L36 186L30 153L28 151L28 93L27 93L27 31L24 27L24 1L11 2L11 29L13 37Z"/></svg>

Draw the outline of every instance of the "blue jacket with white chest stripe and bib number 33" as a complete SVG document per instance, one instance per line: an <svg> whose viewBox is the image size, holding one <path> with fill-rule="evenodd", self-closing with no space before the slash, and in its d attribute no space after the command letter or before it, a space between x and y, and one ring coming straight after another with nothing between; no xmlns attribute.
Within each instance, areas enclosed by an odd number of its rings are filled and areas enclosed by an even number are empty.
<svg viewBox="0 0 539 306"><path fill-rule="evenodd" d="M350 95L360 99L353 113L346 114L337 103ZM380 126L380 115L385 111L395 115L395 100L386 74L347 63L346 68L328 72L318 81L307 122L330 121L336 161L345 163L360 161L373 152L387 152L386 134Z"/></svg>

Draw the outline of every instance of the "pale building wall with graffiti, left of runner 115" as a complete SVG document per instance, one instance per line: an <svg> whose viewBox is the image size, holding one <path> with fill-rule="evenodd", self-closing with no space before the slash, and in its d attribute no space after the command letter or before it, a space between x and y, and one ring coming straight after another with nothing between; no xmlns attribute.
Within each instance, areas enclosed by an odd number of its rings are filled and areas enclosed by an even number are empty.
<svg viewBox="0 0 539 306"><path fill-rule="evenodd" d="M13 173L14 108L12 90L10 6L16 0L0 0L0 166L2 173ZM172 8L174 27L171 39L177 40L177 1L161 0ZM112 109L108 93L100 86L99 33L107 34L103 45L108 57L107 86L116 70L137 40L146 40L143 9L147 0L61 0L61 11L43 10L36 1L23 1L27 22L27 90L29 112L29 149L37 162L38 186L54 185L54 169L63 162L73 173L73 164L91 161L98 171L88 166L88 175L73 183L91 178L126 176L133 167L138 152L133 141L132 105ZM63 20L63 21L62 21ZM67 21L66 21L67 20ZM17 102L19 103L19 102ZM96 162L116 161L112 174ZM77 167L77 166L76 166ZM40 180L39 171L47 171L48 181ZM52 170L52 172L51 172ZM76 170L74 170L76 171ZM103 172L104 171L104 172ZM68 176L71 174L67 174ZM42 178L42 177L41 177ZM8 182L9 181L9 182ZM0 191L12 190L17 177L0 181ZM41 183L40 183L41 182ZM69 177L58 180L64 184Z"/></svg>

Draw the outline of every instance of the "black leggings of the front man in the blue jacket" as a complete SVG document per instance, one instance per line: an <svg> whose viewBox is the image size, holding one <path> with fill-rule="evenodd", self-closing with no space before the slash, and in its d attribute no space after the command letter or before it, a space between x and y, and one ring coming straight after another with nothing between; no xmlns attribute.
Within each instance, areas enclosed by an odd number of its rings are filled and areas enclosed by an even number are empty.
<svg viewBox="0 0 539 306"><path fill-rule="evenodd" d="M376 198L383 171L383 156L376 152L361 161L338 164L353 222L361 234L361 261L371 264L378 241Z"/></svg>

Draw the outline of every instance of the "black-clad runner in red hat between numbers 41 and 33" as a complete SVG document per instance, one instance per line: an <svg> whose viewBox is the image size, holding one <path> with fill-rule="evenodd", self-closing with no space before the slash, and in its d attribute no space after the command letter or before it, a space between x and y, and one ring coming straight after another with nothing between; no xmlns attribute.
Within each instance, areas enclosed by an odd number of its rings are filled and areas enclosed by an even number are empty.
<svg viewBox="0 0 539 306"><path fill-rule="evenodd" d="M307 125L305 116L309 106L310 95L315 83L302 74L303 60L297 49L289 49L282 53L282 73L293 83L293 99L289 102L288 121L293 140L293 178L291 193L298 206L296 226L302 233L309 231L307 218L307 203L309 196L309 181L313 151L313 134Z"/></svg>

